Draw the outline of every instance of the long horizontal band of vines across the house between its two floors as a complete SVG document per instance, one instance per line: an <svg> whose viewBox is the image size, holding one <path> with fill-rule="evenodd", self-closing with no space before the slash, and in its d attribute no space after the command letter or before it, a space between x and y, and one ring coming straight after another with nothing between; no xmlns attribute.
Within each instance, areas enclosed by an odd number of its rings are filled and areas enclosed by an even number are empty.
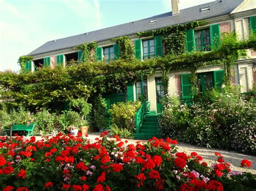
<svg viewBox="0 0 256 191"><path fill-rule="evenodd" d="M162 70L164 77L174 70L191 71L191 81L196 86L198 67L214 64L228 70L242 49L256 49L256 36L239 41L234 34L230 34L222 40L218 49L211 52L169 54L144 61L117 59L107 65L104 61L85 61L65 68L43 67L33 73L2 72L0 87L4 91L1 92L1 99L14 107L19 103L31 110L42 107L60 110L64 101L111 93L124 88L129 81L140 79L142 72L148 76L157 68Z"/></svg>

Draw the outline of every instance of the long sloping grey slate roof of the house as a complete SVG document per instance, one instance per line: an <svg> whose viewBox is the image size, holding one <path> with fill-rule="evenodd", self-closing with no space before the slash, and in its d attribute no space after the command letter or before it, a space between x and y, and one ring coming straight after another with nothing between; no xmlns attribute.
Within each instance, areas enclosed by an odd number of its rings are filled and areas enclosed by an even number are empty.
<svg viewBox="0 0 256 191"><path fill-rule="evenodd" d="M127 36L129 34L136 34L140 31L148 31L159 29L161 27L177 25L181 23L191 22L193 20L201 20L212 18L216 16L226 15L232 12L243 0L219 0L205 3L191 8L180 10L179 15L172 16L172 12L167 12L161 15L149 17L135 22L125 23L117 26L100 29L97 31L88 32L87 34L78 34L76 36L66 37L48 41L42 46L38 47L28 55L38 55L57 51L60 49L71 48L82 43L90 43L91 41L102 41L120 36ZM209 6L210 10L200 12L200 8ZM150 20L157 19L156 23L149 24Z"/></svg>

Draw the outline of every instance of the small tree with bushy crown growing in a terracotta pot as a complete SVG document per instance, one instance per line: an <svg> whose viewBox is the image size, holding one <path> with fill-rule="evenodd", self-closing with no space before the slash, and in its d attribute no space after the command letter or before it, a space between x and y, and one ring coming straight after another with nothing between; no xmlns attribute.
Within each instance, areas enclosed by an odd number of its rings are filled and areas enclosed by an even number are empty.
<svg viewBox="0 0 256 191"><path fill-rule="evenodd" d="M89 130L89 124L87 122L86 116L91 111L91 104L87 103L84 98L77 98L70 101L70 107L73 107L79 111L79 121L78 127L82 135L86 135Z"/></svg>

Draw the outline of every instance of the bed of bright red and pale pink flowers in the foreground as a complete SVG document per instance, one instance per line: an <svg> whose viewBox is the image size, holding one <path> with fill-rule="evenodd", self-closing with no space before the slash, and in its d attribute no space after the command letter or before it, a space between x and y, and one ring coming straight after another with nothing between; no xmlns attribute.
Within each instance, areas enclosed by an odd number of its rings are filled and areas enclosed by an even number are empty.
<svg viewBox="0 0 256 191"><path fill-rule="evenodd" d="M220 153L208 165L196 152L177 152L176 140L127 145L105 135L94 142L62 133L37 142L0 138L2 190L255 189L255 175L231 172ZM250 167L250 161L241 165Z"/></svg>

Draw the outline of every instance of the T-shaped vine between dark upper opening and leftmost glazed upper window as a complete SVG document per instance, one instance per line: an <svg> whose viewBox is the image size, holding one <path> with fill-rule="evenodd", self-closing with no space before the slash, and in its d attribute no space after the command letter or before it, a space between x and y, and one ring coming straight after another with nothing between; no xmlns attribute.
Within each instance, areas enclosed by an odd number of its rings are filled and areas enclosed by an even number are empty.
<svg viewBox="0 0 256 191"><path fill-rule="evenodd" d="M83 43L75 47L75 49L80 49L82 51L82 60L87 61L96 61L95 50L98 44L96 42Z"/></svg>

